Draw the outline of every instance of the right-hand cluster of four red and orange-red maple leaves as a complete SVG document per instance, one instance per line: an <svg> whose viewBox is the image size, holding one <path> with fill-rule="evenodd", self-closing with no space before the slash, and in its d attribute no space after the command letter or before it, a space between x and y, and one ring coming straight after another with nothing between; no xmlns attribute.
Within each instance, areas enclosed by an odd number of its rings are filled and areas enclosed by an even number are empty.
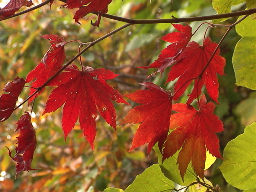
<svg viewBox="0 0 256 192"><path fill-rule="evenodd" d="M155 84L143 83L149 90L139 90L126 95L142 105L132 109L122 124L142 122L134 135L130 150L148 143L149 153L158 142L164 161L182 148L177 162L182 178L190 161L196 174L203 178L206 149L210 154L222 158L215 133L222 131L223 125L218 116L213 114L215 105L212 102L206 104L204 94L198 103L198 110L190 104L200 97L204 84L209 96L218 103L217 73L224 75L226 60L219 55L219 49L214 54L217 44L213 43L210 37L204 40L203 45L199 45L194 41L190 42L190 26L172 25L179 32L172 32L161 38L172 44L164 48L150 66L140 68L158 68L155 73L162 74L170 66L166 83L178 78L174 94ZM178 100L193 80L194 89L188 95L186 104L172 105L172 100ZM171 115L171 110L178 113ZM168 135L169 130L172 132Z"/></svg>

